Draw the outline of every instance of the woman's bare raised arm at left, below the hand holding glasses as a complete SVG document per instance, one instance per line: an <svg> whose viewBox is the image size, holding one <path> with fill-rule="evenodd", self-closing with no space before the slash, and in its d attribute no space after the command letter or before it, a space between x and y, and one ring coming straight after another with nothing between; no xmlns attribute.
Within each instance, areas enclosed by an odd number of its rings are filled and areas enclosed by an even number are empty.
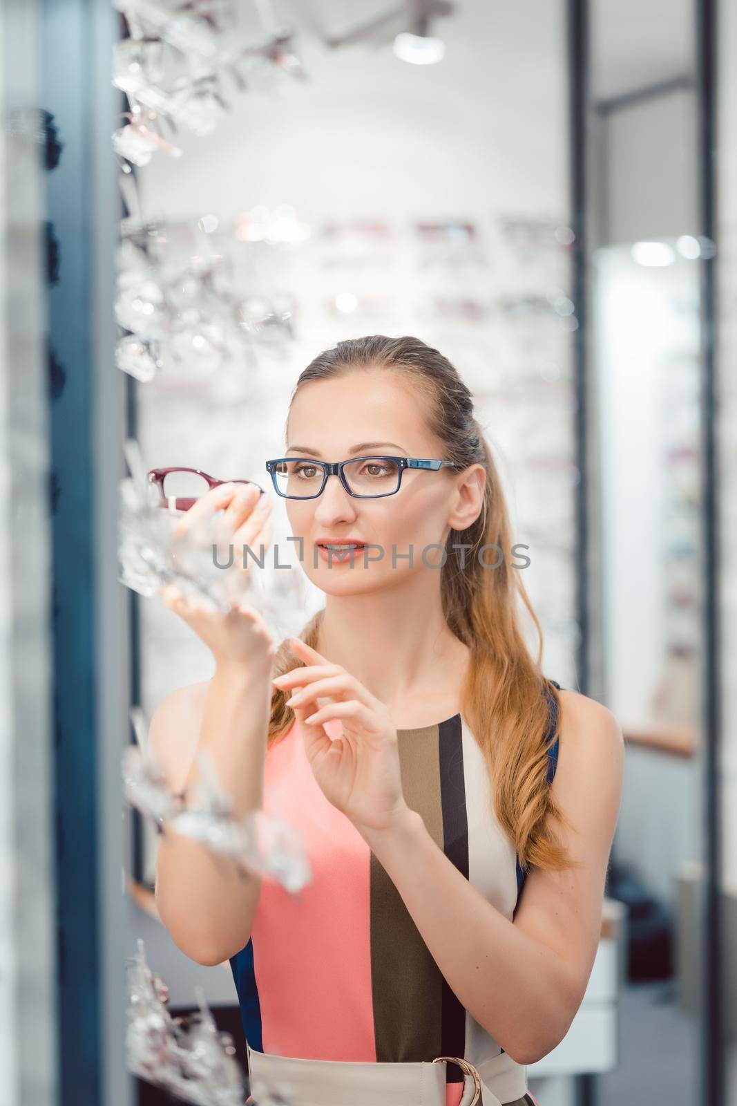
<svg viewBox="0 0 737 1106"><path fill-rule="evenodd" d="M196 753L207 750L235 815L262 810L271 674L271 666L223 666L211 680L161 701L149 740L171 791L197 780ZM243 948L260 894L260 876L239 874L232 862L187 837L159 836L158 911L175 943L198 963L221 963Z"/></svg>

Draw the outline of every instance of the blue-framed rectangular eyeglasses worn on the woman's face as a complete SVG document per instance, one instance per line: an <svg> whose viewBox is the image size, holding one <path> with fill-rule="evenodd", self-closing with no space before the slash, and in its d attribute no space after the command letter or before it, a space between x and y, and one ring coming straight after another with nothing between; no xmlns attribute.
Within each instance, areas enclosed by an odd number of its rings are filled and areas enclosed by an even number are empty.
<svg viewBox="0 0 737 1106"><path fill-rule="evenodd" d="M284 499L317 499L327 478L336 476L349 495L381 499L396 495L406 469L457 469L453 461L427 457L351 457L348 461L316 461L313 457L278 457L266 461L275 491Z"/></svg>

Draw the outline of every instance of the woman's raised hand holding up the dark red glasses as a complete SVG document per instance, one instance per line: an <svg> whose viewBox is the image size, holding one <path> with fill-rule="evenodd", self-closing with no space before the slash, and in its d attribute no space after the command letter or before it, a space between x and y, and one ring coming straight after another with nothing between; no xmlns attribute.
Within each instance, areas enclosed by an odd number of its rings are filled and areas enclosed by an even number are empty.
<svg viewBox="0 0 737 1106"><path fill-rule="evenodd" d="M176 538L183 538L193 526L208 524L212 515L224 510L218 525L218 541L232 543L235 550L249 545L267 545L273 531L270 522L272 503L253 484L223 483L211 488L179 520ZM238 561L234 572L252 572ZM271 668L276 644L261 614L243 602L228 614L212 611L204 602L185 595L177 584L162 584L158 594L175 614L210 648L218 668L254 666Z"/></svg>

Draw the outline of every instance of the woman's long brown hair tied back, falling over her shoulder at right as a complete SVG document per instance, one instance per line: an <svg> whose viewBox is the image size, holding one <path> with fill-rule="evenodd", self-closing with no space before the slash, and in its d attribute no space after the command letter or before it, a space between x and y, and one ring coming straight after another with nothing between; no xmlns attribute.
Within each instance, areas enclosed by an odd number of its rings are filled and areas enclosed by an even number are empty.
<svg viewBox="0 0 737 1106"><path fill-rule="evenodd" d="M461 710L482 749L493 781L492 802L497 817L515 844L524 869L528 865L560 869L578 866L552 836L552 821L569 824L550 795L547 750L559 734L560 700L555 685L543 676L543 632L522 583L510 566L512 532L507 505L488 444L474 417L473 396L453 365L438 349L415 337L390 338L382 334L338 342L319 354L299 375L292 400L303 384L326 380L356 369L391 369L409 376L427 398L428 422L445 446L444 457L461 468L481 463L486 469L483 510L464 531L451 529L446 561L441 568L443 613L451 630L471 650L461 689ZM288 421L288 419L287 419ZM471 545L462 551L454 545ZM489 571L488 554L497 546L502 563ZM496 559L499 559L499 553ZM462 566L463 565L463 566ZM517 599L522 598L536 628L537 659L525 645ZM324 608L298 635L317 647ZM302 665L283 641L274 658L276 675ZM294 720L286 706L288 692L275 689L269 726L269 744L283 735ZM557 723L550 740L554 703Z"/></svg>

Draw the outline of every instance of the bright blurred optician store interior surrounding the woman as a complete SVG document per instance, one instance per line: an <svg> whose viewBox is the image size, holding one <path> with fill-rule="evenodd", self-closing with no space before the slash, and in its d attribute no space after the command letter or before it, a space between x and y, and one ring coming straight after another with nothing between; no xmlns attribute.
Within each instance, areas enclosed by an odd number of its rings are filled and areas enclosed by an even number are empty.
<svg viewBox="0 0 737 1106"><path fill-rule="evenodd" d="M136 488L264 486L297 376L364 334L473 390L544 671L625 739L529 1089L737 1106L735 55L731 0L0 0L3 1106L239 1100L147 1037L214 1026L245 1070L229 963L156 906L130 750L212 656ZM270 586L297 633L320 593Z"/></svg>

